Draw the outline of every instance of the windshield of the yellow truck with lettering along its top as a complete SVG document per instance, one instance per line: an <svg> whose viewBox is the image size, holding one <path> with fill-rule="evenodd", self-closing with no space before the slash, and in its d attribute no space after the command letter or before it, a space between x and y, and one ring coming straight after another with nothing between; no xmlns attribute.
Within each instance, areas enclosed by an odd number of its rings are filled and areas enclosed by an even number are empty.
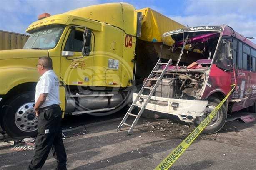
<svg viewBox="0 0 256 170"><path fill-rule="evenodd" d="M60 39L64 27L48 27L30 34L23 49L53 49Z"/></svg>

